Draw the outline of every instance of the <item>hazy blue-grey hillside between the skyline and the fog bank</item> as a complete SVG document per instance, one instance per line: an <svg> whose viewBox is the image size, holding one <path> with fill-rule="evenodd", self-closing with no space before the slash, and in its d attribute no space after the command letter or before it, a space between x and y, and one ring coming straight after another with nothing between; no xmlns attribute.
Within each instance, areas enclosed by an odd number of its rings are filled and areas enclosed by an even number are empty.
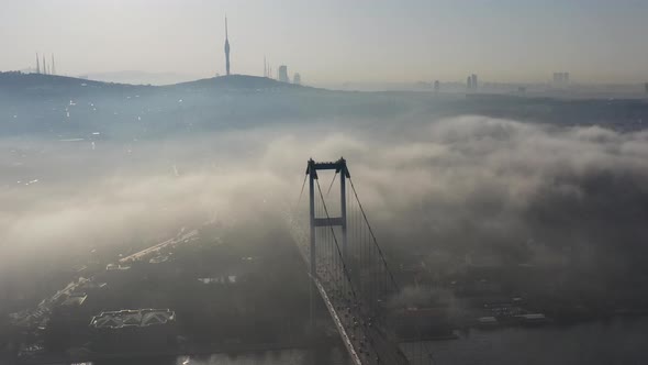
<svg viewBox="0 0 648 365"><path fill-rule="evenodd" d="M549 99L433 92L354 92L232 75L170 86L0 73L0 135L148 139L271 123L389 119L428 123L478 114L559 125L644 129L645 100ZM348 124L348 123L345 123Z"/></svg>

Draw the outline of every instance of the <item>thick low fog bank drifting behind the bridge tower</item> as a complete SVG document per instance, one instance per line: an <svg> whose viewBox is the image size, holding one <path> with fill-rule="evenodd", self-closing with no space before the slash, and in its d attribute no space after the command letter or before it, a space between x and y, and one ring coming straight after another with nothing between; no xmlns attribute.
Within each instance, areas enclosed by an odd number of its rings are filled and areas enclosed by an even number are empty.
<svg viewBox="0 0 648 365"><path fill-rule="evenodd" d="M2 266L277 211L297 201L309 157L342 155L381 242L405 242L439 265L474 253L632 267L646 254L648 132L470 115L403 124L398 134L387 122L349 125L93 146L0 141Z"/></svg>

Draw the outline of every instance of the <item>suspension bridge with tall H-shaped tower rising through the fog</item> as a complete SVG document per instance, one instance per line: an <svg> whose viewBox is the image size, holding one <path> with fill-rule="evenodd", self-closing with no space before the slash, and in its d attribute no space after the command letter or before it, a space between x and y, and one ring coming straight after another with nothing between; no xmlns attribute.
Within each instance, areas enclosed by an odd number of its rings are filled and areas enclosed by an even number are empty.
<svg viewBox="0 0 648 365"><path fill-rule="evenodd" d="M326 191L320 185L320 173L324 172L333 173ZM309 199L304 204L306 181ZM308 162L297 207L287 219L310 270L312 330L320 296L355 365L433 363L423 342L418 342L418 351L410 358L399 346L389 323L389 310L401 290L344 158Z"/></svg>

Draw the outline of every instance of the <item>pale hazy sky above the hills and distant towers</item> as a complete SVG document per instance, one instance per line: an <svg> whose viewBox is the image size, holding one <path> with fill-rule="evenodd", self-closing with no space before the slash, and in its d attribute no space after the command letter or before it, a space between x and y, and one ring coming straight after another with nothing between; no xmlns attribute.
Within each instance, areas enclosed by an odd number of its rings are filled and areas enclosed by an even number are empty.
<svg viewBox="0 0 648 365"><path fill-rule="evenodd" d="M262 74L310 84L648 80L648 1L1 0L0 70L55 53L59 73Z"/></svg>

